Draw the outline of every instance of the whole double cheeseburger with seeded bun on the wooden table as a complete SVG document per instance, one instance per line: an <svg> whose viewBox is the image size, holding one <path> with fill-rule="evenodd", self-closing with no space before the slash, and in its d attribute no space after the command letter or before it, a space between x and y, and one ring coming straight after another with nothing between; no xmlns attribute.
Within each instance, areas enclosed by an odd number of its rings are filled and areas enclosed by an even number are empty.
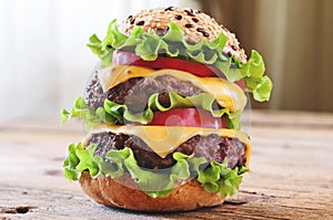
<svg viewBox="0 0 333 220"><path fill-rule="evenodd" d="M272 82L256 51L208 14L175 7L142 11L107 36L90 38L100 59L83 97L62 121L81 117L64 176L97 202L140 211L221 205L249 170L240 132L246 92L268 101Z"/></svg>

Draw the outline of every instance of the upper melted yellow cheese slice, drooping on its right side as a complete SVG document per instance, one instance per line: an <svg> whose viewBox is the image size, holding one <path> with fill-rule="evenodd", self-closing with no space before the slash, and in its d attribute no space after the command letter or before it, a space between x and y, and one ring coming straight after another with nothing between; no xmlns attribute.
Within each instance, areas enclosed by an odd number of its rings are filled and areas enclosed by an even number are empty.
<svg viewBox="0 0 333 220"><path fill-rule="evenodd" d="M218 104L229 108L231 112L243 111L246 105L246 96L242 88L232 82L219 77L199 77L184 71L169 69L155 71L127 65L111 65L99 71L103 91L124 83L132 77L157 77L161 75L171 75L180 81L191 82L203 92L214 95Z"/></svg>

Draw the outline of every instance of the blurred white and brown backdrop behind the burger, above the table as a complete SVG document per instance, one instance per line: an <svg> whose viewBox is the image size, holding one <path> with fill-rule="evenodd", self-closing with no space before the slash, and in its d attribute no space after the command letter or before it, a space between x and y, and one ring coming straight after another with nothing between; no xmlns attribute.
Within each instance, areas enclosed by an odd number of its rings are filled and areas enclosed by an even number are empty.
<svg viewBox="0 0 333 220"><path fill-rule="evenodd" d="M332 0L0 0L0 121L57 119L98 62L89 36L160 6L201 9L264 56L272 101L253 107L333 112Z"/></svg>

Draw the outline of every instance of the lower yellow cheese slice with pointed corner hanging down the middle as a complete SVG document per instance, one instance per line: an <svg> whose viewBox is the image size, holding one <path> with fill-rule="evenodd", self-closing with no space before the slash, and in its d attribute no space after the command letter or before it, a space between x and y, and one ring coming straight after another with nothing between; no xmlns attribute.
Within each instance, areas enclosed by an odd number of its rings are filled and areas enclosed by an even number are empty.
<svg viewBox="0 0 333 220"><path fill-rule="evenodd" d="M246 145L245 156L246 166L250 160L251 145L249 136L234 129L214 129L186 126L100 126L88 134L85 145L92 134L111 132L113 134L134 135L140 137L154 153L161 158L165 158L170 153L174 151L182 143L186 142L195 135L209 136L216 134L221 137L238 138Z"/></svg>

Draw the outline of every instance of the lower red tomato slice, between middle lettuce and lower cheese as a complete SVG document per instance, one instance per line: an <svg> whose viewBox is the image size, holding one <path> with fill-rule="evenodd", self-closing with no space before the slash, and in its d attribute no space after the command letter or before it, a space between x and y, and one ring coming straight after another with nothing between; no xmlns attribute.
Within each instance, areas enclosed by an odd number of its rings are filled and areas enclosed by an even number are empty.
<svg viewBox="0 0 333 220"><path fill-rule="evenodd" d="M225 117L213 117L210 112L196 108L174 108L167 112L154 112L153 119L148 125L205 128L228 127Z"/></svg>

